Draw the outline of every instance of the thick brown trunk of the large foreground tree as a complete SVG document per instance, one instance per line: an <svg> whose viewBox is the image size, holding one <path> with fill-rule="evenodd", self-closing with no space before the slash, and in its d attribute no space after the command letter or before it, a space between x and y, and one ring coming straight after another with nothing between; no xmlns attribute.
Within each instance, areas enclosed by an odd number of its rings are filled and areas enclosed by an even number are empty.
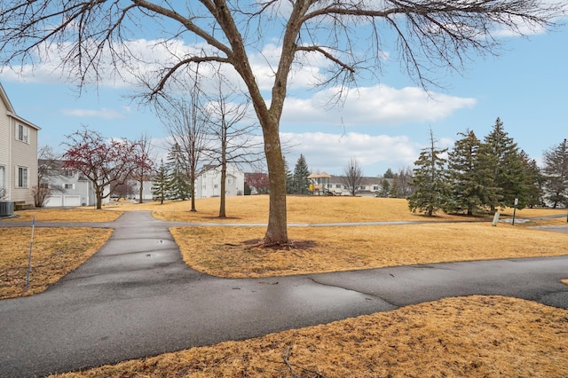
<svg viewBox="0 0 568 378"><path fill-rule="evenodd" d="M286 215L286 169L280 146L278 123L264 128L264 154L270 180L270 211L264 246L288 245Z"/></svg>

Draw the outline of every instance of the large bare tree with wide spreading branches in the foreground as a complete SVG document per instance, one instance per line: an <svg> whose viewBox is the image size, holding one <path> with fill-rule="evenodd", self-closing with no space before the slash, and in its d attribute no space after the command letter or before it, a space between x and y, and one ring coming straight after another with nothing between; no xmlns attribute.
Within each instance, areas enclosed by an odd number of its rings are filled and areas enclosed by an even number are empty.
<svg viewBox="0 0 568 378"><path fill-rule="evenodd" d="M279 130L294 67L307 64L308 57L325 59L327 72L320 71L316 79L347 89L359 73L380 73L383 48L394 41L407 73L427 86L436 83L440 67L461 70L477 53L498 51L496 35L502 28L518 35L525 27L548 28L565 12L564 6L549 0L3 0L0 59L4 64L28 64L36 61L38 51L63 51L63 65L81 84L106 75L101 65L109 61L119 74L125 67L139 66L144 58L127 42L155 29L155 35L164 38L159 43L172 55L163 62L154 54L143 61L155 67L150 95L195 63L233 67L263 130L271 186L264 244L287 244ZM197 47L173 53L183 38ZM278 54L266 57L272 76L270 91L263 93L250 56L274 38Z"/></svg>

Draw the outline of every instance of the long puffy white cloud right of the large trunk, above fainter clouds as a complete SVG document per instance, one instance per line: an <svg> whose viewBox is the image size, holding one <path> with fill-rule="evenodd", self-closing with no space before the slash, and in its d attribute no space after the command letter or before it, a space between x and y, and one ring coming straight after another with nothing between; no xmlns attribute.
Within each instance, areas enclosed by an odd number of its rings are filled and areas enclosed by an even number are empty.
<svg viewBox="0 0 568 378"><path fill-rule="evenodd" d="M476 105L475 98L459 98L441 93L430 93L420 88L401 90L386 86L363 87L351 90L343 106L331 101L339 88L320 91L312 98L287 98L282 123L289 124L342 124L399 125L406 122L436 122L455 111Z"/></svg>

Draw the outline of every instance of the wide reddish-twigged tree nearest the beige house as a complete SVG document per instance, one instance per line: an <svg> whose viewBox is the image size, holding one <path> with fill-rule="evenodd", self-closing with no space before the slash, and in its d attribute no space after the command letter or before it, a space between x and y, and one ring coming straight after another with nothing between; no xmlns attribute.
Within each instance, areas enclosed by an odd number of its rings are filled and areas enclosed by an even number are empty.
<svg viewBox="0 0 568 378"><path fill-rule="evenodd" d="M97 209L102 201L123 185L140 163L138 144L128 139L105 139L87 127L67 135L64 167L76 169L93 185Z"/></svg>

